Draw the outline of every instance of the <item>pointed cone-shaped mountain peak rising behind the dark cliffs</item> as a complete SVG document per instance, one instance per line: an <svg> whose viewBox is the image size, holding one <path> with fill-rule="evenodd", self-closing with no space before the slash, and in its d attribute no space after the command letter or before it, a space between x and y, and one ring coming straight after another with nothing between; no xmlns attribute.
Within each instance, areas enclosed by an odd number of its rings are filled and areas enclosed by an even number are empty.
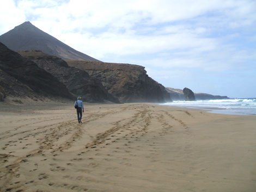
<svg viewBox="0 0 256 192"><path fill-rule="evenodd" d="M87 54L76 51L28 21L1 35L0 42L13 51L40 50L64 60L98 61Z"/></svg>

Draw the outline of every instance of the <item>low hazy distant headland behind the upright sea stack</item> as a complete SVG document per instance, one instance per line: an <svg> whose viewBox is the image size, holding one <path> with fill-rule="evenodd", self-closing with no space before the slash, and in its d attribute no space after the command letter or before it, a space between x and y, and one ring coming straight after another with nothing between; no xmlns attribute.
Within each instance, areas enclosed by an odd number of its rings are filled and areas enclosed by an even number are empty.
<svg viewBox="0 0 256 192"><path fill-rule="evenodd" d="M173 101L185 100L182 89L166 88L166 90L169 92L170 98L172 98ZM227 96L211 95L204 93L194 93L194 97L196 98L196 100L223 100L229 98Z"/></svg>

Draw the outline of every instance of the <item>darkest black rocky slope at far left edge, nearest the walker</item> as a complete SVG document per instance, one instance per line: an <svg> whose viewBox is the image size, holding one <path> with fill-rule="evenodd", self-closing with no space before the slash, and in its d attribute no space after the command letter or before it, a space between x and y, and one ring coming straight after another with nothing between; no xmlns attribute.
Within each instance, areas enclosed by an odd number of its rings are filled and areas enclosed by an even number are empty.
<svg viewBox="0 0 256 192"><path fill-rule="evenodd" d="M57 78L2 43L0 43L0 90L7 96L40 95L71 98L66 86Z"/></svg>

